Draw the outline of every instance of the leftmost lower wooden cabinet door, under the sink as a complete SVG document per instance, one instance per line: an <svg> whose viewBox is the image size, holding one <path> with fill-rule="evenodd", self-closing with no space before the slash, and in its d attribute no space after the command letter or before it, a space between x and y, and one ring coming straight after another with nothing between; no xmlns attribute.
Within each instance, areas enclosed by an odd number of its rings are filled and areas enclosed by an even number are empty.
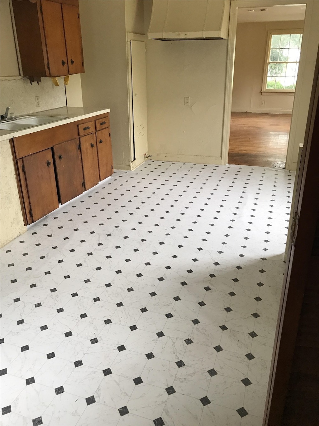
<svg viewBox="0 0 319 426"><path fill-rule="evenodd" d="M31 218L35 222L59 207L51 148L24 157L23 168Z"/></svg>

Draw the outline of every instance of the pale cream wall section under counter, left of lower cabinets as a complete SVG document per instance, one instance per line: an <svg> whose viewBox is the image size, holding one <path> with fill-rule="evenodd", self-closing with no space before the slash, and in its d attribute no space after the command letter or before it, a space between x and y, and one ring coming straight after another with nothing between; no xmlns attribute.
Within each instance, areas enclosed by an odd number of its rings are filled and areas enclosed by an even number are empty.
<svg viewBox="0 0 319 426"><path fill-rule="evenodd" d="M0 143L0 247L26 231L9 141Z"/></svg>

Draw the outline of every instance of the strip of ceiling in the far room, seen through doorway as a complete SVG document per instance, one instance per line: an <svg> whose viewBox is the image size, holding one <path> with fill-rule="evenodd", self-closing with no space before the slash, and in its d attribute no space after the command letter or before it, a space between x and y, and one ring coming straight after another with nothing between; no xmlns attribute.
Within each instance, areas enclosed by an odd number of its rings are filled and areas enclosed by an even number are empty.
<svg viewBox="0 0 319 426"><path fill-rule="evenodd" d="M252 11L253 12L250 12ZM305 19L305 4L238 9L237 22L294 21Z"/></svg>

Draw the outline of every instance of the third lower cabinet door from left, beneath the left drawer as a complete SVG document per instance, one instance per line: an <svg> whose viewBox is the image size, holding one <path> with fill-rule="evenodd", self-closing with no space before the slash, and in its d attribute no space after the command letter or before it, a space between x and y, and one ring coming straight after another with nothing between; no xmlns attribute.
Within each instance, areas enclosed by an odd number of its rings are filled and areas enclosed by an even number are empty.
<svg viewBox="0 0 319 426"><path fill-rule="evenodd" d="M95 133L91 135L82 136L80 138L83 176L85 190L94 187L99 183L99 163L97 160L97 142Z"/></svg>

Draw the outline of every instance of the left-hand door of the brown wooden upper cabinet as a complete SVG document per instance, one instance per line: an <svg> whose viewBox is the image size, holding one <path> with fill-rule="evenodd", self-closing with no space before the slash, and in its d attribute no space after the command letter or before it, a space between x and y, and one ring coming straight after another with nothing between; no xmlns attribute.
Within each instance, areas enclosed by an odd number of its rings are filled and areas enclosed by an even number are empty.
<svg viewBox="0 0 319 426"><path fill-rule="evenodd" d="M41 6L50 76L68 75L61 3L44 0Z"/></svg>

